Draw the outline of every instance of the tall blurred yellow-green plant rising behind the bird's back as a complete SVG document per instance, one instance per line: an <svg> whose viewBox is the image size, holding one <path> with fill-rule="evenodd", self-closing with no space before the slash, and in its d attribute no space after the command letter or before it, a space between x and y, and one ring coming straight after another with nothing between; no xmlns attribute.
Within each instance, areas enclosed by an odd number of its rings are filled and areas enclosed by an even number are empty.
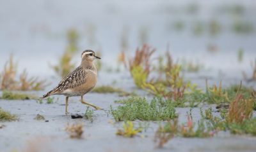
<svg viewBox="0 0 256 152"><path fill-rule="evenodd" d="M70 73L76 64L71 64L71 60L73 59L74 55L77 53L77 40L79 38L77 31L75 29L70 29L67 33L68 38L68 46L63 53L62 57L60 58L60 62L56 66L51 66L54 71L64 78L68 73Z"/></svg>

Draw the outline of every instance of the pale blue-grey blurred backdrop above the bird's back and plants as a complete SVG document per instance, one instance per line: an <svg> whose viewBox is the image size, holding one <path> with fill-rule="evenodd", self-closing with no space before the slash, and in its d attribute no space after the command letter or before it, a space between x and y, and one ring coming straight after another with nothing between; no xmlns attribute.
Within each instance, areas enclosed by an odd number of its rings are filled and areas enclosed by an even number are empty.
<svg viewBox="0 0 256 152"><path fill-rule="evenodd" d="M200 64L213 76L251 76L256 58L255 1L1 1L0 71L13 53L18 73L56 76L54 66L73 47L100 52L102 70L118 67L147 43L154 56ZM110 68L110 69L109 69ZM119 67L118 67L119 68ZM122 71L122 66L120 70ZM124 69L124 68L123 68ZM113 70L115 71L115 70Z"/></svg>

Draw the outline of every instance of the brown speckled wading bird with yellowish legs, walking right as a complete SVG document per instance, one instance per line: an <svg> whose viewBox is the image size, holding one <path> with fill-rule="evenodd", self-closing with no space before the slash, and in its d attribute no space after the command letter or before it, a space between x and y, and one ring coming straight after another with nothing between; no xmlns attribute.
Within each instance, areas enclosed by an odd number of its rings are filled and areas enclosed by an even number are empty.
<svg viewBox="0 0 256 152"><path fill-rule="evenodd" d="M65 76L65 78L63 78L54 89L40 97L40 99L44 99L45 97L49 97L50 95L65 95L66 114L68 114L68 97L75 96L81 96L82 104L87 104L89 106L94 107L95 109L103 110L100 107L94 106L83 101L83 96L86 93L91 92L97 83L97 69L93 64L94 59L100 59L100 57L97 57L93 50L85 50L81 54L80 66L74 69L74 71L68 73L67 76Z"/></svg>

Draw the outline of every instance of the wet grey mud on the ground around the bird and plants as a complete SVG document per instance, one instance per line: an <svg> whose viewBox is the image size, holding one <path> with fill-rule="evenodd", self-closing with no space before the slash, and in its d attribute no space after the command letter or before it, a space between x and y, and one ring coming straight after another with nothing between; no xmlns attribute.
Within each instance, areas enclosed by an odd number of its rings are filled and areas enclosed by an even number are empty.
<svg viewBox="0 0 256 152"><path fill-rule="evenodd" d="M108 74L105 74L108 78ZM124 75L119 75L123 79L126 89L128 91L134 90L131 78L125 78ZM102 76L99 76L99 85L102 84ZM113 78L115 79L115 78ZM51 79L54 83L48 86L49 90L58 83L58 79ZM204 79L195 80L201 81L203 85ZM216 79L218 81L218 79ZM215 82L216 82L215 81ZM113 86L122 87L123 83L116 83ZM214 83L214 81L210 81ZM225 83L225 82L224 82ZM218 84L218 83L216 83ZM246 83L247 85L252 85ZM245 84L245 85L246 85ZM224 84L225 85L225 84ZM46 90L47 90L46 89ZM147 93L138 90L141 97L152 99ZM35 93L35 92L30 92ZM45 93L45 91L36 92L38 96ZM150 127L147 132L143 131L140 135L145 135L145 138L133 137L124 138L115 135L116 128L109 123L109 119L114 120L111 114L105 111L93 109L93 122L83 117L81 122L84 123L83 139L70 139L65 132L67 123L73 124L77 120L71 118L71 114L83 115L86 111L86 105L81 104L79 97L72 97L68 102L68 112L65 114L65 97L55 96L60 99L57 103L43 104L36 103L36 100L0 100L2 109L11 111L13 114L19 114L19 121L1 122L6 125L0 128L0 151L28 151L28 149L36 147L39 151L256 151L256 137L250 135L232 135L229 132L218 132L214 137L209 138L183 138L175 137L170 140L163 148L155 148L154 132L158 127L157 121L150 121ZM111 104L114 108L119 106L115 104L114 100L122 99L116 93L100 94L88 93L84 95L84 100L87 102L109 110ZM213 111L216 105L205 104L203 109L212 107ZM179 114L179 123L187 121L187 108L176 108ZM255 111L253 111L255 113ZM45 120L34 120L36 114L44 116ZM220 116L220 113L213 112L214 116ZM192 110L193 121L197 122L202 117L200 115L200 108L194 107ZM255 114L254 114L255 115ZM136 127L141 121L134 121ZM143 124L144 122L142 122ZM122 122L117 123L122 128Z"/></svg>

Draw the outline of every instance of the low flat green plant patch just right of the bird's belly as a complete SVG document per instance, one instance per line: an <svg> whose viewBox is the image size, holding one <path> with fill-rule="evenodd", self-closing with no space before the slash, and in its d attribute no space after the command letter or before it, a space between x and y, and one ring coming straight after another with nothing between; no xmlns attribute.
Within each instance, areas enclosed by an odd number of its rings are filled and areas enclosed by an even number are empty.
<svg viewBox="0 0 256 152"><path fill-rule="evenodd" d="M128 95L136 95L136 93L132 92L132 93L128 93L125 92L124 89L122 88L113 88L112 86L97 86L95 88L93 88L92 92L97 92L97 93L118 93L119 96L128 96Z"/></svg>

